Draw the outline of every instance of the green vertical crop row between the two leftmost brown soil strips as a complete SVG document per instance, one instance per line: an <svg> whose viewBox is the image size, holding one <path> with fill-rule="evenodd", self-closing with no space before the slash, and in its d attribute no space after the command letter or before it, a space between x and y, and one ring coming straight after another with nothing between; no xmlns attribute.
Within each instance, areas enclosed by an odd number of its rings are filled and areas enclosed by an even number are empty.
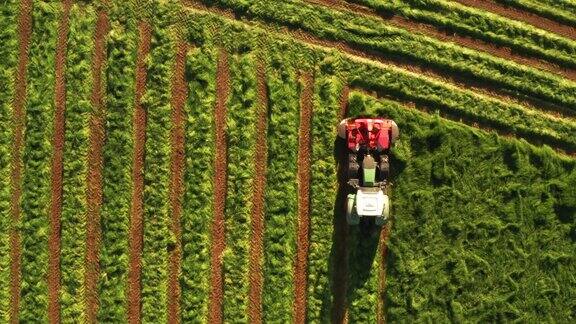
<svg viewBox="0 0 576 324"><path fill-rule="evenodd" d="M46 322L58 1L35 2L27 70L22 175L20 320Z"/></svg>

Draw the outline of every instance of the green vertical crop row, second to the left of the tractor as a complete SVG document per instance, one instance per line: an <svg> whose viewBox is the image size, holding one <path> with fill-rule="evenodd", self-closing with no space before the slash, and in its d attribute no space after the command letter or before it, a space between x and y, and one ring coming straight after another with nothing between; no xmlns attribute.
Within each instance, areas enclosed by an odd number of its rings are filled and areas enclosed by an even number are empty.
<svg viewBox="0 0 576 324"><path fill-rule="evenodd" d="M293 322L294 260L298 220L298 126L300 87L293 65L280 52L268 54L268 167L265 191L262 316Z"/></svg>

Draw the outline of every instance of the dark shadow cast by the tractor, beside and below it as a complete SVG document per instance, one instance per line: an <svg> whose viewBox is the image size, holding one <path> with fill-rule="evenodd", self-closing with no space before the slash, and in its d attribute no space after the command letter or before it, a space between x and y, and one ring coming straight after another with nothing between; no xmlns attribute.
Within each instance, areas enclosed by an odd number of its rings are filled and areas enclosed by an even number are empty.
<svg viewBox="0 0 576 324"><path fill-rule="evenodd" d="M332 323L345 319L347 303L358 298L361 288L370 276L377 275L372 269L377 255L382 227L361 222L349 226L346 222L346 199L354 189L347 184L346 141L336 137L334 159L338 170L338 192L333 209L333 236L330 251L330 283L332 287Z"/></svg>

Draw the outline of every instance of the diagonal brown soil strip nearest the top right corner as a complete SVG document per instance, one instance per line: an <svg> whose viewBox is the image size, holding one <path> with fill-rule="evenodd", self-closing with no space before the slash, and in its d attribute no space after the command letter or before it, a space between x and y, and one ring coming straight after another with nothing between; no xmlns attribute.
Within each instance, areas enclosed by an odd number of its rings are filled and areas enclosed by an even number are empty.
<svg viewBox="0 0 576 324"><path fill-rule="evenodd" d="M522 22L529 23L538 28L547 30L552 33L556 33L571 39L576 40L576 28L561 24L557 21L538 16L536 14L516 9L513 7L508 7L492 0L456 0L463 5L470 7L477 7L482 10L491 11L500 16L507 18L519 20Z"/></svg>

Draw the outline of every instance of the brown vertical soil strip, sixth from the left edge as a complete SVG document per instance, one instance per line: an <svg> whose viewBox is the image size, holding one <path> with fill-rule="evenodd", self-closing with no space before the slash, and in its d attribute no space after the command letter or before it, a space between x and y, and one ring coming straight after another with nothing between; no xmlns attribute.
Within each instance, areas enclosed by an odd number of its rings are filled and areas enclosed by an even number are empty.
<svg viewBox="0 0 576 324"><path fill-rule="evenodd" d="M226 101L230 92L230 71L228 54L220 51L216 75L216 107L214 121L216 124L216 158L214 161L214 221L212 223L212 259L210 266L210 303L208 306L208 322L222 323L222 295L224 284L222 276L222 253L226 246L224 236L224 212L227 191L227 156L226 142Z"/></svg>

